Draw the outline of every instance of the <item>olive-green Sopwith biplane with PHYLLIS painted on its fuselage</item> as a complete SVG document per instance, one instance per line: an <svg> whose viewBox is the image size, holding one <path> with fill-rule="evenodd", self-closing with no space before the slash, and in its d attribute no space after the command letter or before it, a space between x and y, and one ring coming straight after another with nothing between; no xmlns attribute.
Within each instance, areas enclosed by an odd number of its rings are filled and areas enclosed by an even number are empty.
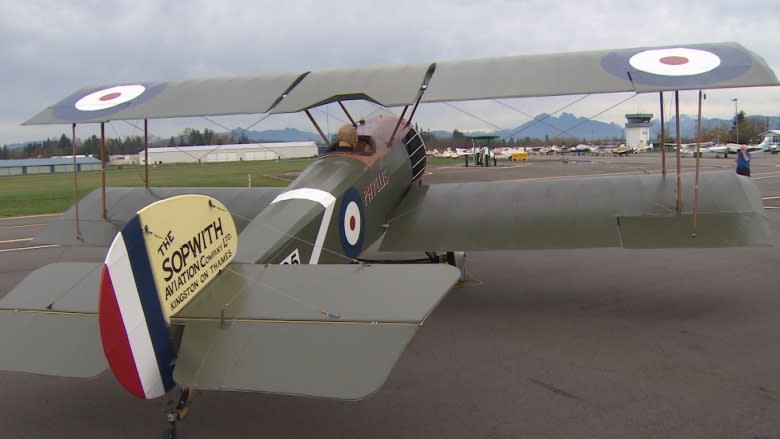
<svg viewBox="0 0 780 439"><path fill-rule="evenodd" d="M87 195L36 242L106 259L44 266L0 300L0 370L111 369L140 398L367 397L460 278L462 252L772 241L758 189L732 172L426 185L419 104L776 85L759 56L718 43L81 89L25 124L304 112L329 142L310 110L339 103L363 148L329 150L286 188ZM353 100L400 115L354 120ZM363 259L372 245L434 263Z"/></svg>

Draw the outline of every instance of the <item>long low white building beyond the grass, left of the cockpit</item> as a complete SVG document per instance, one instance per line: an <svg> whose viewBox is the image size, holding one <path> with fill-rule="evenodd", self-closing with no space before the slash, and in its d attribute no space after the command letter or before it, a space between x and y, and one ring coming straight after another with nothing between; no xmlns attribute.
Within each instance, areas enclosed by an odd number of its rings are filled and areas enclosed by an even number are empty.
<svg viewBox="0 0 780 439"><path fill-rule="evenodd" d="M144 151L138 153L139 164L146 163L144 154ZM162 164L276 160L316 155L317 145L312 141L149 148L149 162Z"/></svg>

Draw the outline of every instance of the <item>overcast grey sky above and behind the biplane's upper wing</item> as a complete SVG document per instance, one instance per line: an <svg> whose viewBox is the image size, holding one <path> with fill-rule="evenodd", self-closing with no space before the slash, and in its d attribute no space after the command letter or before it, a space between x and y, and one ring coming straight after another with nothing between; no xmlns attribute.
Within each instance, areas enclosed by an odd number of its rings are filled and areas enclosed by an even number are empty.
<svg viewBox="0 0 780 439"><path fill-rule="evenodd" d="M722 41L742 44L780 74L779 29L777 0L7 1L0 5L0 145L69 133L20 123L86 85ZM732 117L734 98L748 115L780 116L780 87L707 95L705 117ZM578 98L431 104L415 118L427 129L468 131L512 128L560 108L620 124L625 113L658 114L655 94L572 104ZM696 92L681 98L681 112L695 114ZM336 110L316 117L334 130L342 122ZM150 131L168 137L183 127L222 131L259 119L151 121ZM272 116L253 129L284 127L313 131L300 115ZM79 137L94 132L78 128ZM107 127L111 137L133 133L126 122Z"/></svg>

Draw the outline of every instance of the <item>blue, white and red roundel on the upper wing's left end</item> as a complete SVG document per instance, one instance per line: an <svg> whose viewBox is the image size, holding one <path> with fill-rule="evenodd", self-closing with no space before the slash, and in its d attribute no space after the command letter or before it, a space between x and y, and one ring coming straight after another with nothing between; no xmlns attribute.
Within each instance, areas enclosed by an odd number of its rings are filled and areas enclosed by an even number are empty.
<svg viewBox="0 0 780 439"><path fill-rule="evenodd" d="M120 110L157 96L165 87L165 83L148 83L81 90L57 103L52 112L58 119L68 122L110 119Z"/></svg>

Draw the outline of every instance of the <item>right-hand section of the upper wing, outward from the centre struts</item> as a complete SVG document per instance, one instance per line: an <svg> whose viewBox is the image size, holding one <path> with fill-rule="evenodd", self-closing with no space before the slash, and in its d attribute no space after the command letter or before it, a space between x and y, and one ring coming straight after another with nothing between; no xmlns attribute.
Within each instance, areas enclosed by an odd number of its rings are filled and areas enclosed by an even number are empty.
<svg viewBox="0 0 780 439"><path fill-rule="evenodd" d="M770 85L766 62L739 44L694 44L440 62L422 101Z"/></svg>

